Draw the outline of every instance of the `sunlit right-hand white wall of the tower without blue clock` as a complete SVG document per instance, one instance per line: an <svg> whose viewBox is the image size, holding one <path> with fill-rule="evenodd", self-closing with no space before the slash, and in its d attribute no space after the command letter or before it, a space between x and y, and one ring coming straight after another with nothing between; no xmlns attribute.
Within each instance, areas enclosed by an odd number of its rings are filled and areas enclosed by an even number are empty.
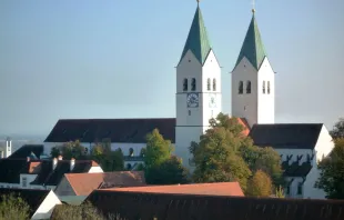
<svg viewBox="0 0 344 220"><path fill-rule="evenodd" d="M265 81L265 93L263 93ZM267 81L270 93L267 93ZM257 72L257 123L274 123L275 118L275 73L265 57Z"/></svg>

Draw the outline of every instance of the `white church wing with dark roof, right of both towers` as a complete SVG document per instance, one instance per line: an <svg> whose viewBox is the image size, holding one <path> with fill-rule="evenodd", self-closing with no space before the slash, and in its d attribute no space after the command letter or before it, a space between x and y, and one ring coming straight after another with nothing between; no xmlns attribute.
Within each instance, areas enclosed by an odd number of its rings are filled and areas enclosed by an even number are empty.
<svg viewBox="0 0 344 220"><path fill-rule="evenodd" d="M255 146L272 147L280 153L287 197L325 198L323 190L314 188L320 177L317 163L334 148L323 123L254 124L249 136Z"/></svg>

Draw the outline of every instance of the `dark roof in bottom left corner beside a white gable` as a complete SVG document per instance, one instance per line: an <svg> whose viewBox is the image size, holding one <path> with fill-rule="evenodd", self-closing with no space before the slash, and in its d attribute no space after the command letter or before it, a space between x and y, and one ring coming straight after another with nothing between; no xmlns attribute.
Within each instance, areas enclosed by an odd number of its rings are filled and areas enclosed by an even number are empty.
<svg viewBox="0 0 344 220"><path fill-rule="evenodd" d="M16 194L23 199L30 207L30 217L34 214L41 203L49 194L49 190L37 190L37 189L13 189L13 188L0 188L0 202L2 194Z"/></svg>

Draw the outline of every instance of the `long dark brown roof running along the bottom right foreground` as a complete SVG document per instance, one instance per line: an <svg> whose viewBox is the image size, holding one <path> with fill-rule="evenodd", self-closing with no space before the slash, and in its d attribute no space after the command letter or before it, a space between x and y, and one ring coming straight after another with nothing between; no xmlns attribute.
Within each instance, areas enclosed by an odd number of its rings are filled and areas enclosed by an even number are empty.
<svg viewBox="0 0 344 220"><path fill-rule="evenodd" d="M343 200L279 199L94 190L90 201L124 219L330 220L344 219Z"/></svg>

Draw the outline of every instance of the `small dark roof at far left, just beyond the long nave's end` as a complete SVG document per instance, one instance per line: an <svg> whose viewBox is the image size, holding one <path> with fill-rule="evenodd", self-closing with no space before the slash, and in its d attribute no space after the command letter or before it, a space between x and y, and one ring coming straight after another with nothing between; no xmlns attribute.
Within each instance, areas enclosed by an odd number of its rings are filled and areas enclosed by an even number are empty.
<svg viewBox="0 0 344 220"><path fill-rule="evenodd" d="M39 159L43 150L44 147L42 144L24 144L8 158L27 159L27 157L30 157L31 159Z"/></svg>

